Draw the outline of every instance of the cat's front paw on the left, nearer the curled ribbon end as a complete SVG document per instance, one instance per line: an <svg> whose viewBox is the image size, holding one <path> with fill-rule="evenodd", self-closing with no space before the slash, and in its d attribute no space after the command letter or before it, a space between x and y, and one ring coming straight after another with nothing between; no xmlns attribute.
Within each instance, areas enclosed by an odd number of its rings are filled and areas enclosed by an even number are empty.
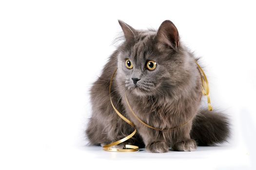
<svg viewBox="0 0 256 170"><path fill-rule="evenodd" d="M169 146L164 141L157 141L148 144L146 150L150 153L166 153L169 151Z"/></svg>

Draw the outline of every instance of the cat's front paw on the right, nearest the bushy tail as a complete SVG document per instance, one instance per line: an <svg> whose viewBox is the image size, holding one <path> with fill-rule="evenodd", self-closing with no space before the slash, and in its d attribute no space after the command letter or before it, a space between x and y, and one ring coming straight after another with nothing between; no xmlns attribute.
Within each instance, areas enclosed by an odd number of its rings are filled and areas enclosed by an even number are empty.
<svg viewBox="0 0 256 170"><path fill-rule="evenodd" d="M172 147L173 151L196 151L197 143L193 139L187 139L184 141L177 142Z"/></svg>

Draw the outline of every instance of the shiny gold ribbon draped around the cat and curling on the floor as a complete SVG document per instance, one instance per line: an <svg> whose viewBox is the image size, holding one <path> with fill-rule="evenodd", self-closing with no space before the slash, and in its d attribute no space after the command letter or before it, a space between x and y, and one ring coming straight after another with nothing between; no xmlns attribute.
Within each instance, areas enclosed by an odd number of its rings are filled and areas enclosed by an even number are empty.
<svg viewBox="0 0 256 170"><path fill-rule="evenodd" d="M196 63L197 63L197 62L196 62ZM208 109L209 109L210 111L212 111L213 108L212 108L212 106L211 106L210 95L209 95L209 91L210 91L209 82L208 82L208 80L207 80L207 77L206 77L206 75L205 75L203 69L199 66L198 63L197 63L197 68L198 68L198 70L199 70L199 73L200 73L200 75L201 75L201 80L202 80L202 85L201 85L201 87L202 87L202 94L205 95L205 96L207 96ZM125 117L118 111L118 109L114 106L114 104L113 104L113 102L112 102L112 99L111 99L111 86L112 86L113 78L114 78L114 76L115 76L116 71L117 71L117 69L115 69L115 71L113 72L112 77L111 77L111 79L110 79L110 83L109 83L109 97L110 97L110 102L111 102L111 105L112 105L113 109L114 109L115 112L118 114L118 116L119 116L121 119L123 119L125 122L127 122L128 124L130 124L133 128L135 128L134 123L133 123L131 120L125 118ZM126 102L127 102L127 104L128 104L128 107L129 107L129 109L131 110L131 112L132 112L132 114L134 115L134 117L135 117L136 119L138 119L139 122L141 122L142 124L144 124L145 126L147 126L148 128L155 129L155 130L158 130L158 131L170 131L170 130L175 130L175 129L178 129L178 128L181 128L181 127L185 126L185 125L193 118L193 117L192 117L192 118L189 119L186 123L184 123L184 124L182 124L182 125L180 125L180 126L178 126L178 127L176 127L176 128L171 128L171 129L158 129L158 128L155 128L155 127L153 127L153 126L148 125L147 123L145 123L144 121L142 121L141 119L139 119L138 116L137 116L137 115L134 113L134 111L132 110L132 108L131 108L131 106L130 106L128 100L127 100L126 93L124 93L124 95L125 95L125 100L126 100ZM135 151L138 151L138 146L135 146L135 145L125 145L124 149L112 148L113 146L116 146L116 145L118 145L118 144L120 144L120 143L122 143L122 142L124 142L124 141L126 141L126 140L128 140L128 139L130 139L131 137L133 137L133 136L136 134L136 132L137 132L137 130L135 129L135 130L133 131L133 133L131 133L130 135L128 135L128 136L126 136L126 137L124 137L124 138L122 138L122 139L120 139L120 140L118 140L118 141L116 141L116 142L113 142L113 143L104 145L104 146L103 146L103 150L104 150L104 151L112 151L112 152L135 152Z"/></svg>

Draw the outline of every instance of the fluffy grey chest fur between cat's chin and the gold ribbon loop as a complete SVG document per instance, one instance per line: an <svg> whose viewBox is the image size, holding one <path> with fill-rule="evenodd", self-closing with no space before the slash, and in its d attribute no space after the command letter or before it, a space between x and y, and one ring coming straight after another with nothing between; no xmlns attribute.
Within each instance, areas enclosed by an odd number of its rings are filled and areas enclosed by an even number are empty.
<svg viewBox="0 0 256 170"><path fill-rule="evenodd" d="M170 128L190 119L197 112L198 105L187 100L166 100L164 102L149 99L133 100L129 104L125 103L126 111L134 122L143 122L158 127ZM138 120L140 119L140 120Z"/></svg>

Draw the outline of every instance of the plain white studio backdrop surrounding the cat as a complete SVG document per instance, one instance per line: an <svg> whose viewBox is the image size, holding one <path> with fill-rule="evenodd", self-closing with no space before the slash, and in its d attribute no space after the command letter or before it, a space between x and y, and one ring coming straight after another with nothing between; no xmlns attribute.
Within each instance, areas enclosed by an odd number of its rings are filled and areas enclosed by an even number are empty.
<svg viewBox="0 0 256 170"><path fill-rule="evenodd" d="M0 169L256 167L255 9L253 0L1 0ZM202 57L212 105L232 119L229 144L162 154L85 146L89 89L115 50L118 19L176 24Z"/></svg>

